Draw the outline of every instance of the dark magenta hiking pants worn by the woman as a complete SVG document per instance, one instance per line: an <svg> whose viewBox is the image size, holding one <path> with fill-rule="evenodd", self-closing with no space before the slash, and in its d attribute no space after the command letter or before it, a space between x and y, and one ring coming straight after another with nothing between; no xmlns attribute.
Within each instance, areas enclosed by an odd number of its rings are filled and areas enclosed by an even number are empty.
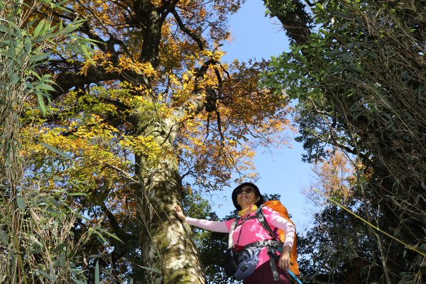
<svg viewBox="0 0 426 284"><path fill-rule="evenodd" d="M278 263L275 261L280 280L273 280L271 263L266 261L246 279L243 280L244 284L290 284L290 274L283 271L278 267Z"/></svg>

